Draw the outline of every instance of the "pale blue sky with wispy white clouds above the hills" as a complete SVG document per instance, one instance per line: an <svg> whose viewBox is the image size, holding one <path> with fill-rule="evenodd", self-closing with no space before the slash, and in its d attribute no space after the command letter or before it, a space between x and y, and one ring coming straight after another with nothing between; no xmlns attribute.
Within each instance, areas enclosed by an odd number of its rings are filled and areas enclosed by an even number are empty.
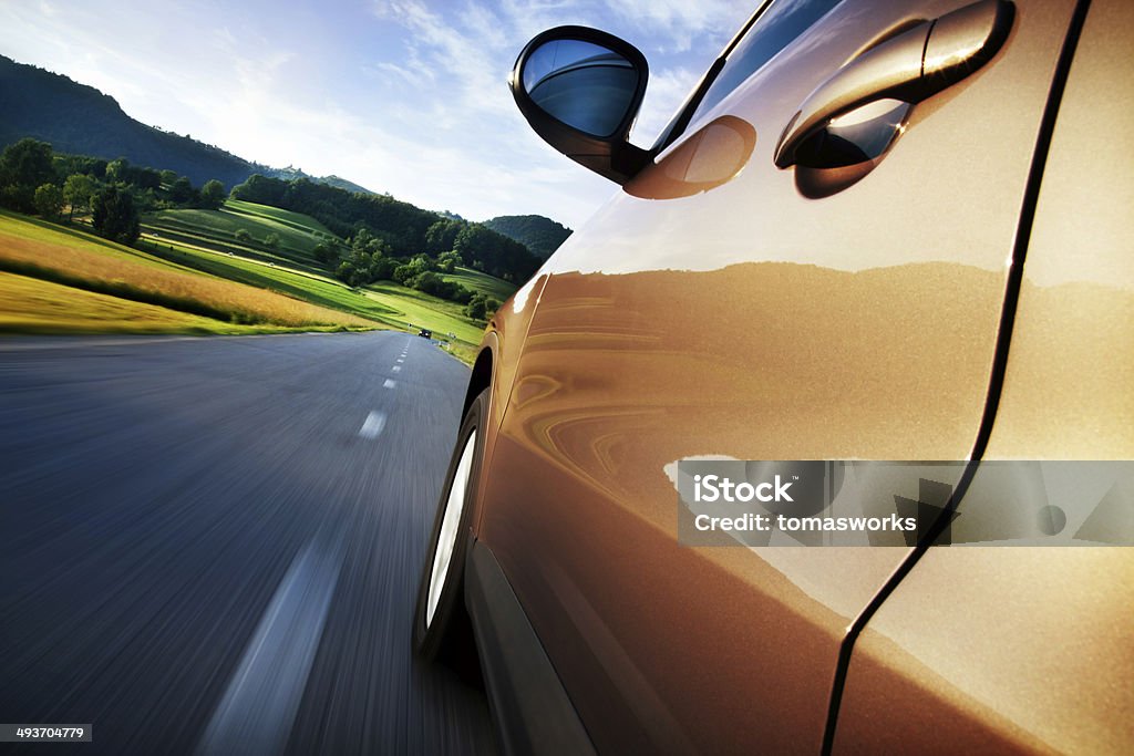
<svg viewBox="0 0 1134 756"><path fill-rule="evenodd" d="M247 160L337 175L469 220L578 228L617 187L543 143L507 76L579 24L650 61L649 146L752 12L722 0L6 0L0 53ZM160 167L159 167L160 168Z"/></svg>

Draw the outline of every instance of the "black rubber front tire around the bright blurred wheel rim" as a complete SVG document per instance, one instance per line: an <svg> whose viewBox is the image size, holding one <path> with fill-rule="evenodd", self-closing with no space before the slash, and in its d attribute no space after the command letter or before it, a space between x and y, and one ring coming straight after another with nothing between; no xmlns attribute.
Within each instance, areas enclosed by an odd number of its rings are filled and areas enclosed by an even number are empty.
<svg viewBox="0 0 1134 756"><path fill-rule="evenodd" d="M457 443L452 449L449 470L446 473L445 485L441 487L441 498L437 507L437 517L433 518L433 529L430 532L429 547L425 550L425 563L422 568L421 585L417 588L417 605L414 609L414 651L426 661L440 660L458 668L458 670L475 664L476 657L472 621L465 610L465 555L468 552L472 504L480 479L484 449L482 428L488 406L489 390L485 389L473 400L460 424L460 432L457 433ZM443 571L445 577L439 580L439 592L432 619L429 619L430 589L433 586L438 546L449 504L457 503L449 501L450 492L458 478L458 473L465 474L465 470L462 469L462 459L466 453L471 455L469 467L464 477L464 498L460 501L456 534L451 537L451 557L448 568L438 570L439 574Z"/></svg>

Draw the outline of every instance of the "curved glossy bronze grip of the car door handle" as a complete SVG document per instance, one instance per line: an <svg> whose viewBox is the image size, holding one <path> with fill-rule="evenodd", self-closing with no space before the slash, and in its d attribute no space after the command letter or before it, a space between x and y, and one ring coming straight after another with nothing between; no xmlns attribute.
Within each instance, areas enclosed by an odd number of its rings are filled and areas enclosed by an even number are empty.
<svg viewBox="0 0 1134 756"><path fill-rule="evenodd" d="M1007 0L980 0L866 50L803 101L776 147L776 165L794 165L801 144L855 108L883 99L921 102L962 80L997 53L1013 16Z"/></svg>

